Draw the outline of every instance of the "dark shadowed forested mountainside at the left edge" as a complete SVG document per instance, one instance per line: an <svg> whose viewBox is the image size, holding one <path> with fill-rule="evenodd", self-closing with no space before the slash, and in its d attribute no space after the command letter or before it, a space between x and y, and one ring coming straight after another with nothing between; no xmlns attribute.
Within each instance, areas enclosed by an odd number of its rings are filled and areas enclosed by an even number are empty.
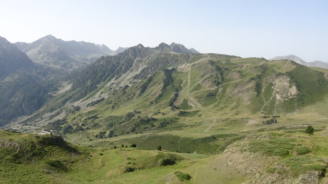
<svg viewBox="0 0 328 184"><path fill-rule="evenodd" d="M33 63L25 53L0 37L0 126L38 110L56 90L61 71Z"/></svg>

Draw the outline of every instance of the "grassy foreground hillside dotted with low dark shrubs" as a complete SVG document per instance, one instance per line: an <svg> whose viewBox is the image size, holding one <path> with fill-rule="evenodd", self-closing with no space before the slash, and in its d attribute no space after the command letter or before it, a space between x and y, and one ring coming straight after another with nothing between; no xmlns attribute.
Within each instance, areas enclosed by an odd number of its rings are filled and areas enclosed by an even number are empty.
<svg viewBox="0 0 328 184"><path fill-rule="evenodd" d="M313 136L309 136L302 131L306 125L281 127L284 121L280 120L276 126L239 132L238 135L194 137L191 144L188 137L174 140L164 136L159 139L153 136L155 144L140 142L142 139L137 137L133 140L110 138L95 142L88 141L90 138L82 134L78 138L81 145L73 146L56 135L0 131L1 181L326 183L326 131L317 129ZM92 136L92 139L95 138ZM226 142L227 139L230 141ZM163 144L160 140L167 143ZM224 147L221 153L211 155L166 151L172 142L178 143L176 141L189 147L196 144L197 148L206 151L204 153L211 152L213 146L224 142L229 146ZM136 147L131 147L135 143ZM140 149L140 145L148 145L149 148ZM161 145L162 151L156 150L158 145Z"/></svg>

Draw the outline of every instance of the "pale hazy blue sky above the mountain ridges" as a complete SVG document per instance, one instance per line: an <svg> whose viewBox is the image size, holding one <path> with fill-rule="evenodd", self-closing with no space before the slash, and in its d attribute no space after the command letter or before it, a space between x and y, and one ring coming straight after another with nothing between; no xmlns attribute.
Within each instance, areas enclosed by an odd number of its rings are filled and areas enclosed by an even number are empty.
<svg viewBox="0 0 328 184"><path fill-rule="evenodd" d="M33 42L48 34L112 50L176 42L201 53L328 62L328 0L0 0L0 36Z"/></svg>

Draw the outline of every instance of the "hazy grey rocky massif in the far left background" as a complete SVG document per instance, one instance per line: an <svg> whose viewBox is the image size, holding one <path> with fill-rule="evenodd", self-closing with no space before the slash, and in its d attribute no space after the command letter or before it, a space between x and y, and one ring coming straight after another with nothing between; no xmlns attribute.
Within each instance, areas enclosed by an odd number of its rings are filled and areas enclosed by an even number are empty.
<svg viewBox="0 0 328 184"><path fill-rule="evenodd" d="M16 42L15 45L35 63L67 70L90 64L100 56L113 53L104 44L64 41L52 35L47 35L32 43Z"/></svg>

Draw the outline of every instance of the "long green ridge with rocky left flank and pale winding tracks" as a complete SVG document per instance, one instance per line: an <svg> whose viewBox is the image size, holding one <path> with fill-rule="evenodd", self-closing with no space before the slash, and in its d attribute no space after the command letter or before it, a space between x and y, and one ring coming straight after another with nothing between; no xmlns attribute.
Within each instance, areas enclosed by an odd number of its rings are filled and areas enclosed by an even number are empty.
<svg viewBox="0 0 328 184"><path fill-rule="evenodd" d="M97 105L92 115L105 119L133 110L152 114L156 109L174 116L177 110L200 114L205 109L224 117L275 115L315 104L327 95L328 87L324 73L290 60L175 53L165 43L156 48L139 44L101 57L70 82L71 88L39 113L63 112L74 105L90 114L88 109ZM54 120L38 119L46 124Z"/></svg>

